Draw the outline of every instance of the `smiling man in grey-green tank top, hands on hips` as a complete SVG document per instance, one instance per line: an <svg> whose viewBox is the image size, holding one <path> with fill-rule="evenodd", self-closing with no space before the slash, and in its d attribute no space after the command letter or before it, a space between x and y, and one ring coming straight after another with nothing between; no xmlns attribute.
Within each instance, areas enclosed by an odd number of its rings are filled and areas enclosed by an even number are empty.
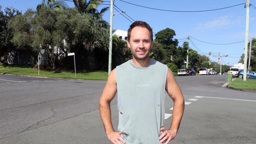
<svg viewBox="0 0 256 144"><path fill-rule="evenodd" d="M178 131L184 98L172 71L148 57L153 44L152 29L136 21L128 30L132 60L111 71L99 100L100 116L113 144L168 144ZM170 129L163 127L165 90L173 99ZM114 131L110 102L118 95L119 125Z"/></svg>

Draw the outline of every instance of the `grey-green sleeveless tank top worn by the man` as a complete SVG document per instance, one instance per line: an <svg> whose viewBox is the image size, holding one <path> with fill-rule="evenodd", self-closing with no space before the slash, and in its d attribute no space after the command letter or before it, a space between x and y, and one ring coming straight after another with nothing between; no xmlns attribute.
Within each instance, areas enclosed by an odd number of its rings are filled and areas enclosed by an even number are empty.
<svg viewBox="0 0 256 144"><path fill-rule="evenodd" d="M118 131L126 144L161 144L167 71L154 59L147 67L131 60L117 66Z"/></svg>

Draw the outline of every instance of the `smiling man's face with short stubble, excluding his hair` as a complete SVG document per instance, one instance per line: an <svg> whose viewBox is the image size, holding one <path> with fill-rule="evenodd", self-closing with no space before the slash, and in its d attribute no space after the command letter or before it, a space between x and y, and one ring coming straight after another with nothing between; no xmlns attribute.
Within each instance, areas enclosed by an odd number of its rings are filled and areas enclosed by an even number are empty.
<svg viewBox="0 0 256 144"><path fill-rule="evenodd" d="M130 40L127 41L133 57L137 60L147 59L152 43L148 29L140 26L132 29Z"/></svg>

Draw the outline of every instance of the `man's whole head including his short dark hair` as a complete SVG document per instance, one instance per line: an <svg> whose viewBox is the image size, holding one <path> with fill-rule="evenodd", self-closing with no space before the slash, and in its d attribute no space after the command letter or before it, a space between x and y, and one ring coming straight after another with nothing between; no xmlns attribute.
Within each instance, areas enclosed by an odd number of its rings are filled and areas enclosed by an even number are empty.
<svg viewBox="0 0 256 144"><path fill-rule="evenodd" d="M128 30L127 45L131 48L133 58L146 60L153 44L152 29L146 22L136 21Z"/></svg>

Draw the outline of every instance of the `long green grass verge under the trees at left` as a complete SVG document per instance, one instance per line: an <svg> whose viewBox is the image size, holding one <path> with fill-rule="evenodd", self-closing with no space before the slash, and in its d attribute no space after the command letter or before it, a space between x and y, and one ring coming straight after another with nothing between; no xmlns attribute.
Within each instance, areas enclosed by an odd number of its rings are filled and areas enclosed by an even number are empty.
<svg viewBox="0 0 256 144"><path fill-rule="evenodd" d="M3 65L0 63L0 74L17 74L38 76L38 69L29 65ZM74 70L40 70L40 76L52 78L75 79ZM108 72L103 70L77 70L76 79L107 80Z"/></svg>

